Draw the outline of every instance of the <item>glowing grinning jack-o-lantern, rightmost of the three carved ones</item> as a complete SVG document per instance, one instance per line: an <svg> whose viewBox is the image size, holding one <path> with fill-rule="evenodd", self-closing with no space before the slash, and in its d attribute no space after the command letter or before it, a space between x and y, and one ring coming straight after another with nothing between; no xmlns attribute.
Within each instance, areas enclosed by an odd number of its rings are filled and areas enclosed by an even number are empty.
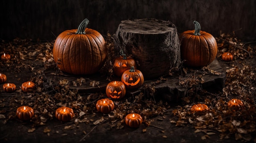
<svg viewBox="0 0 256 143"><path fill-rule="evenodd" d="M121 77L122 82L128 89L136 89L143 85L144 76L138 69L131 67L130 70L126 70Z"/></svg>

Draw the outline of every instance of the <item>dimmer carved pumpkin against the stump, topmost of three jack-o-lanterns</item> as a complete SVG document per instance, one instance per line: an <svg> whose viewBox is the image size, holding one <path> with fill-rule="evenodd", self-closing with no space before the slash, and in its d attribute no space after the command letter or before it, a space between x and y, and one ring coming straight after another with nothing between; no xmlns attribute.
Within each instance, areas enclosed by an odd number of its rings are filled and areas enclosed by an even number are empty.
<svg viewBox="0 0 256 143"><path fill-rule="evenodd" d="M136 69L136 63L133 58L126 58L126 54L122 54L122 56L118 57L114 61L114 73L117 76L121 76L124 71L130 69L132 66Z"/></svg>

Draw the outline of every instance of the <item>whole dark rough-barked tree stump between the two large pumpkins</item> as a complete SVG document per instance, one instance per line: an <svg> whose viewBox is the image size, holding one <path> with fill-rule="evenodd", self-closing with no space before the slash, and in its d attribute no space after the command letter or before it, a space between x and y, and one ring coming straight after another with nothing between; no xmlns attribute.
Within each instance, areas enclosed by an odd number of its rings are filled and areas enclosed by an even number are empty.
<svg viewBox="0 0 256 143"><path fill-rule="evenodd" d="M181 63L177 28L171 22L123 20L115 33L114 44L116 56L121 49L126 55L132 55L146 79L164 76Z"/></svg>

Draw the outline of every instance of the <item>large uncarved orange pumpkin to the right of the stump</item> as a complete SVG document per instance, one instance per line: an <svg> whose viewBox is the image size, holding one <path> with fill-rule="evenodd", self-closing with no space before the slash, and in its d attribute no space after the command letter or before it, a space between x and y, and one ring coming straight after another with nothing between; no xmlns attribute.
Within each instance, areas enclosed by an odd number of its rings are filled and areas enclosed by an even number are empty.
<svg viewBox="0 0 256 143"><path fill-rule="evenodd" d="M209 65L217 55L216 39L211 34L201 31L197 21L193 24L195 30L187 30L180 35L183 64L190 67Z"/></svg>

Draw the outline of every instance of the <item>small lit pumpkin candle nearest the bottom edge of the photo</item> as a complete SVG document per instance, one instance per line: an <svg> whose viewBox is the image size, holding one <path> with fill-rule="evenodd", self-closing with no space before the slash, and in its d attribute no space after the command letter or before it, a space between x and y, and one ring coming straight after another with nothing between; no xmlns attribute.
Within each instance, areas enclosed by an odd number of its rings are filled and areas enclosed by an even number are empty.
<svg viewBox="0 0 256 143"><path fill-rule="evenodd" d="M138 128L142 123L142 117L136 113L128 114L125 117L125 123L132 128Z"/></svg>

